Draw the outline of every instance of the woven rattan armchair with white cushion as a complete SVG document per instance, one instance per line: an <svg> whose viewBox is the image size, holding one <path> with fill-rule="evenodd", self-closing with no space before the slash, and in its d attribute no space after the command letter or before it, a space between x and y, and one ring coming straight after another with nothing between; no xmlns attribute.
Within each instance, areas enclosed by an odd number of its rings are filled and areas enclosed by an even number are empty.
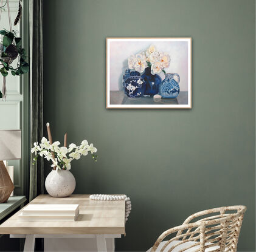
<svg viewBox="0 0 256 252"><path fill-rule="evenodd" d="M235 252L245 211L246 206L224 206L192 214L181 226L162 233L148 251Z"/></svg>

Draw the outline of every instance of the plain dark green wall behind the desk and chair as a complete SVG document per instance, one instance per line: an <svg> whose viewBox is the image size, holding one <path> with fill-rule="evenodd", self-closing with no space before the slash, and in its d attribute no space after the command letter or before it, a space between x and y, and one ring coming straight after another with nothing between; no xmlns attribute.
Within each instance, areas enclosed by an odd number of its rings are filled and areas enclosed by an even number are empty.
<svg viewBox="0 0 256 252"><path fill-rule="evenodd" d="M44 120L55 140L67 132L99 149L99 162L73 163L75 193L131 197L117 251L145 251L196 211L240 204L238 250L255 251L255 1L43 3ZM191 36L192 109L105 109L108 36Z"/></svg>

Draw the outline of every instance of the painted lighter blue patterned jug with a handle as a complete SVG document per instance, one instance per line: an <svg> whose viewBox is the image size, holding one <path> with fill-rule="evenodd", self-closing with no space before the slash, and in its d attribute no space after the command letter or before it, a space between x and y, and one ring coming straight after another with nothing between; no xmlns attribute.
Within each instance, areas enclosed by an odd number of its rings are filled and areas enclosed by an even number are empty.
<svg viewBox="0 0 256 252"><path fill-rule="evenodd" d="M174 77L177 77L177 81ZM162 98L176 98L179 95L179 75L178 73L166 73L165 79L159 86L159 94Z"/></svg>

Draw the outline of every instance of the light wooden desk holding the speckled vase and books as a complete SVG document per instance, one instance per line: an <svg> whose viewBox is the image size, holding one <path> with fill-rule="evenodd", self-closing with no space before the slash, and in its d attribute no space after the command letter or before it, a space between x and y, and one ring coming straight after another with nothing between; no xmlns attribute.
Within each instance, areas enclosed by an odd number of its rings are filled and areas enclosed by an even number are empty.
<svg viewBox="0 0 256 252"><path fill-rule="evenodd" d="M79 204L79 216L74 222L26 222L18 213L0 225L1 234L10 237L26 237L24 251L33 251L35 238L96 238L98 251L106 251L106 238L120 238L125 234L125 200L90 200L89 195L71 195L66 198L53 198L40 195L30 204Z"/></svg>

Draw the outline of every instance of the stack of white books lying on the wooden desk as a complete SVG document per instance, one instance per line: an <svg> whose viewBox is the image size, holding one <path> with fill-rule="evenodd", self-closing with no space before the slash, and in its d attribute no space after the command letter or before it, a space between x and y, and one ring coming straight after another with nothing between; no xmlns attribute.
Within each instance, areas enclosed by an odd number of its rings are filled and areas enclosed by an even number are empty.
<svg viewBox="0 0 256 252"><path fill-rule="evenodd" d="M22 209L19 219L26 221L75 221L78 214L78 204L29 204Z"/></svg>

